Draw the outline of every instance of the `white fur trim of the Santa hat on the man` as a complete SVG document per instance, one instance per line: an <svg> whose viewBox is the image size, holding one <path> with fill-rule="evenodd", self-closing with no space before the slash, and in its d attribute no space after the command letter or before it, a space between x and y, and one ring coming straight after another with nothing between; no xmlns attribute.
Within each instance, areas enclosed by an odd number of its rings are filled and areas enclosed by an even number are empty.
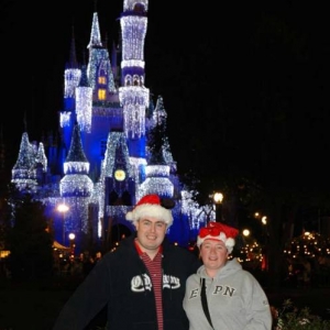
<svg viewBox="0 0 330 330"><path fill-rule="evenodd" d="M141 218L158 218L163 220L167 227L173 223L172 211L156 204L138 205L132 211L127 213L127 220L136 222Z"/></svg>

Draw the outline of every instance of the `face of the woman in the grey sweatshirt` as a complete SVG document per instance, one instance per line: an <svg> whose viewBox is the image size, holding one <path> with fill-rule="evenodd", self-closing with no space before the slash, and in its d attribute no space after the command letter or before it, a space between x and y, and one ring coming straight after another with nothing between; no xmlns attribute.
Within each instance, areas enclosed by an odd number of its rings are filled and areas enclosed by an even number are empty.
<svg viewBox="0 0 330 330"><path fill-rule="evenodd" d="M207 270L220 270L227 262L228 250L222 241L207 239L200 245L200 257Z"/></svg>

